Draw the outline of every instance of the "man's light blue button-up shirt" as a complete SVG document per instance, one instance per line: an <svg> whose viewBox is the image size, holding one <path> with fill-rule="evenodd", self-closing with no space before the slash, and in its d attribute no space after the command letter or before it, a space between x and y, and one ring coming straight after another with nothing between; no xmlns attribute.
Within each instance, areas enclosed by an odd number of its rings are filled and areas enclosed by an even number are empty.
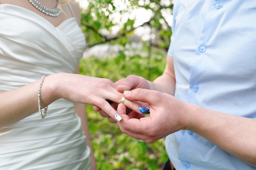
<svg viewBox="0 0 256 170"><path fill-rule="evenodd" d="M175 96L256 119L256 1L175 0L172 31ZM256 170L187 130L167 136L166 151L177 170Z"/></svg>

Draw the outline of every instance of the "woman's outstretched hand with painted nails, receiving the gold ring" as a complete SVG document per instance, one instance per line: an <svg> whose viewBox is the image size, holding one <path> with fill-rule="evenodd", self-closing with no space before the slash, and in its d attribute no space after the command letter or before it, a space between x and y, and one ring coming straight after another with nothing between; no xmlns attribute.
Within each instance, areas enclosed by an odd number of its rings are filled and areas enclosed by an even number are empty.
<svg viewBox="0 0 256 170"><path fill-rule="evenodd" d="M60 81L61 80L61 81ZM49 82L49 83L48 83ZM123 97L116 90L117 85L107 78L97 78L79 74L58 73L47 76L42 86L42 95L51 88L54 98L64 98L76 103L92 104L101 108L110 117L118 120L117 111L106 100L120 103ZM49 87L47 87L47 85ZM126 106L132 110L138 108L136 103L125 100ZM139 111L137 111L140 113Z"/></svg>

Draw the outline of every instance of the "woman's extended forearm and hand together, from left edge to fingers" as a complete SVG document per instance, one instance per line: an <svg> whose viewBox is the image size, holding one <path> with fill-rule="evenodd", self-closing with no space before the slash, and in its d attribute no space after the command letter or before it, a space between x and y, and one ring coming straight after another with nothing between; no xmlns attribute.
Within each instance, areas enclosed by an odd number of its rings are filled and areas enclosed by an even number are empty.
<svg viewBox="0 0 256 170"><path fill-rule="evenodd" d="M38 78L40 79L40 78ZM40 80L0 93L0 127L15 123L38 111L37 91ZM115 119L117 111L106 101L119 103L123 94L106 78L57 73L46 76L41 87L41 108L59 98L97 105ZM131 102L132 103L132 102ZM132 106L131 106L132 107ZM137 108L137 105L134 105ZM51 108L48 108L50 110ZM40 116L38 114L38 119Z"/></svg>

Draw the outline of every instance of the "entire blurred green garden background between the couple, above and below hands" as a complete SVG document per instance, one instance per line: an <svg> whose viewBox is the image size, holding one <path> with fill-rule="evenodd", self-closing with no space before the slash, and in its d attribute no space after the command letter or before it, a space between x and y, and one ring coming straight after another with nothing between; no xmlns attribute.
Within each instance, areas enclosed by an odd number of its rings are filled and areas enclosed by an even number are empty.
<svg viewBox="0 0 256 170"><path fill-rule="evenodd" d="M109 78L113 82L130 74L153 81L162 74L172 34L167 21L172 13L172 0L83 1L88 2L81 14L87 47L110 44L122 48L108 58L83 58L81 74ZM136 10L150 13L149 19L136 23L137 18L132 15ZM136 33L141 28L149 30L147 38ZM139 47L132 47L134 42ZM92 105L87 105L87 112L99 170L159 170L167 161L164 139L151 144L132 139L122 134L117 124L102 118Z"/></svg>

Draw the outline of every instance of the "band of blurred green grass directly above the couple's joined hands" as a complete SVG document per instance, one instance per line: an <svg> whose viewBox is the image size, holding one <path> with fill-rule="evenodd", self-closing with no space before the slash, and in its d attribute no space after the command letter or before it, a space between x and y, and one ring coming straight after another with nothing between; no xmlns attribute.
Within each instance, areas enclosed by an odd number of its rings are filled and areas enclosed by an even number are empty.
<svg viewBox="0 0 256 170"><path fill-rule="evenodd" d="M157 50L153 51L153 55L154 57L148 59L138 54L126 56L123 51L119 51L119 55L116 57L96 58L91 56L81 60L81 73L88 76L109 78L113 82L130 74L136 74L153 81L164 71L166 52Z"/></svg>

